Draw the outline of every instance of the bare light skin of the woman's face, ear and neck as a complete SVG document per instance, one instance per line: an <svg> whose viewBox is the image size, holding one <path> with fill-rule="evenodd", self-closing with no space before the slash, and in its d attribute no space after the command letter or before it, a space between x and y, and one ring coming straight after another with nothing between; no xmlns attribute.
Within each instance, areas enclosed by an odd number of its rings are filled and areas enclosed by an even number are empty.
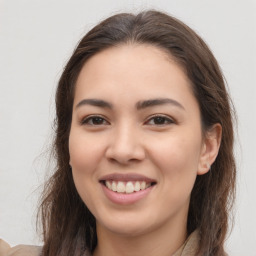
<svg viewBox="0 0 256 256"><path fill-rule="evenodd" d="M176 103L137 108L163 98ZM187 237L196 176L208 172L220 137L220 125L203 136L190 81L164 51L121 45L91 57L76 84L69 151L77 191L96 218L94 256L172 255ZM156 185L133 204L115 204L99 182L112 173L142 174Z"/></svg>

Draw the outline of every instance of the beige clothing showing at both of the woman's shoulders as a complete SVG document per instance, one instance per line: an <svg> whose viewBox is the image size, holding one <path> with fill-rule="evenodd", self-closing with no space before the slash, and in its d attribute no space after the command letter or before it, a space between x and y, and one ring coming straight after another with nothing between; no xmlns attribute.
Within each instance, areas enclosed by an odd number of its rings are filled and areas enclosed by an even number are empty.
<svg viewBox="0 0 256 256"><path fill-rule="evenodd" d="M195 231L172 256L196 256L198 242L198 232ZM40 256L41 249L42 247L40 246L32 245L17 245L11 248L6 242L0 239L0 256Z"/></svg>

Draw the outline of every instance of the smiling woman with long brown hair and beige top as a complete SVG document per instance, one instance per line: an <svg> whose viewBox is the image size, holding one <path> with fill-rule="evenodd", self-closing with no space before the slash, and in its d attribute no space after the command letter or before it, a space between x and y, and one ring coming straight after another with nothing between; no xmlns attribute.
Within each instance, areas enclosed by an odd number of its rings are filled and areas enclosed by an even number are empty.
<svg viewBox="0 0 256 256"><path fill-rule="evenodd" d="M31 255L225 255L232 109L217 61L179 20L118 14L88 32L57 88L54 152Z"/></svg>

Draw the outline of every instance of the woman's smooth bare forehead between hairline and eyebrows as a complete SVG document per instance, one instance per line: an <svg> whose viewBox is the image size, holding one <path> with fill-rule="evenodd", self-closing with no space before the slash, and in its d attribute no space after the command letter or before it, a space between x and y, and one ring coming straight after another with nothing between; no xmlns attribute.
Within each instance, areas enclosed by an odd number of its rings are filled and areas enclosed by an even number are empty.
<svg viewBox="0 0 256 256"><path fill-rule="evenodd" d="M193 96L183 68L166 51L145 44L123 44L103 50L84 64L76 98ZM171 95L170 95L171 94ZM140 99L138 99L140 100Z"/></svg>

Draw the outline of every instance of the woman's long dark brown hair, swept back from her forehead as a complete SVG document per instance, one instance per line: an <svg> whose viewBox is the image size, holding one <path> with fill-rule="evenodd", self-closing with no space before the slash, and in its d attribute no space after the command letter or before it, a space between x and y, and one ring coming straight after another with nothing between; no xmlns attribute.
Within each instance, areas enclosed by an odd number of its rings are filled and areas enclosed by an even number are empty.
<svg viewBox="0 0 256 256"><path fill-rule="evenodd" d="M56 92L54 156L56 170L45 185L40 206L43 255L83 255L97 245L95 218L79 197L69 166L68 139L74 90L84 63L120 44L150 44L168 52L185 70L199 103L203 131L222 126L222 142L211 171L198 176L192 190L187 231L199 230L198 255L224 255L229 211L235 194L233 118L220 67L205 42L181 21L161 12L114 15L80 41Z"/></svg>

